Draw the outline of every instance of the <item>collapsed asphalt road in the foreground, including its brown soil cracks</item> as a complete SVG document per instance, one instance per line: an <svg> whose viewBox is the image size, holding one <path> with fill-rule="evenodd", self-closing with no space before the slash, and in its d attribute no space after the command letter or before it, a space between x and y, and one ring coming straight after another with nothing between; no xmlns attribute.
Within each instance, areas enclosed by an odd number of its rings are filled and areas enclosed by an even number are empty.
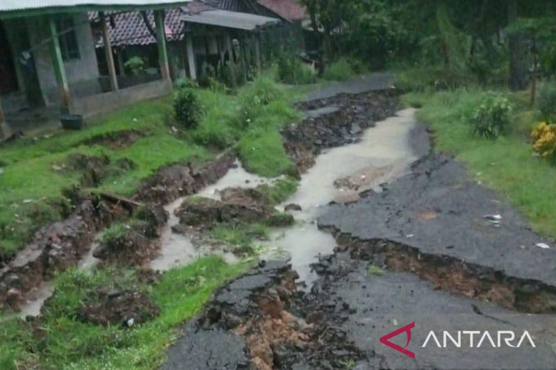
<svg viewBox="0 0 556 370"><path fill-rule="evenodd" d="M311 265L309 292L290 264L261 261L182 328L163 369L554 369L555 249L535 246L553 242L463 165L430 154L423 126L411 132L421 159L409 174L322 207L319 227L338 246ZM379 341L410 323L411 338L391 342L414 358ZM423 346L431 330L439 345ZM478 332L473 344L465 330ZM517 347L525 330L534 347Z"/></svg>

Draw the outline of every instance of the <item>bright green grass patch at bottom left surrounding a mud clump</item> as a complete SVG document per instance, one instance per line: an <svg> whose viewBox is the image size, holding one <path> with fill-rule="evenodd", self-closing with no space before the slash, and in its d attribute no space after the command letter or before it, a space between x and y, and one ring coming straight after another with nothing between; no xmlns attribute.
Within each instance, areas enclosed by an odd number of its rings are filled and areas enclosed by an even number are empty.
<svg viewBox="0 0 556 370"><path fill-rule="evenodd" d="M67 271L57 279L56 293L40 323L12 319L1 324L0 368L158 368L177 335L175 328L197 314L217 287L244 270L245 265L229 265L218 257L202 258L168 271L150 287L141 285L133 271ZM114 282L140 286L161 309L160 316L133 328L74 318L89 289Z"/></svg>

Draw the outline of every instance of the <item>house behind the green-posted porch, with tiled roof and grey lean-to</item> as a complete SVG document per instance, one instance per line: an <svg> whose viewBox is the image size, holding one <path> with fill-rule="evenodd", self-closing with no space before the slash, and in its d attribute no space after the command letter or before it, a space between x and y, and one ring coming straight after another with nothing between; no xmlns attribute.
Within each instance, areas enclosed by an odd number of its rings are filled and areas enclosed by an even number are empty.
<svg viewBox="0 0 556 370"><path fill-rule="evenodd" d="M106 13L106 17L108 40L120 85L133 85L138 78L143 81L152 78L146 71L140 76L133 75L125 66L129 60L139 60L149 70L156 66L154 13L148 10L110 12ZM89 18L95 35L97 57L105 60L106 49L97 26L98 14L91 12ZM225 67L229 69L232 84L245 80L249 69L261 67L263 34L280 24L277 18L222 10L209 5L208 1L199 0L178 8L168 8L164 22L172 78L214 76ZM99 69L101 74L106 75L106 64L101 63Z"/></svg>

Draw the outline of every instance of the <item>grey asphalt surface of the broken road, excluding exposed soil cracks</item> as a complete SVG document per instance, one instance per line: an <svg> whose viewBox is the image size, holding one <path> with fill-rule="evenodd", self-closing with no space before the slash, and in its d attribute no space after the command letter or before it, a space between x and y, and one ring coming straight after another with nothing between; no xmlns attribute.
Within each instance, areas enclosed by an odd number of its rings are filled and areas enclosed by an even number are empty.
<svg viewBox="0 0 556 370"><path fill-rule="evenodd" d="M376 88L387 81L381 79L384 76L376 78ZM363 88L369 88L368 81L330 87L309 97L320 99ZM556 249L534 245L546 242L553 246L553 241L533 233L498 194L470 180L463 165L449 155L430 153L423 126L411 135L411 147L421 159L410 174L384 185L383 192L366 192L354 203L323 207L319 226L357 241L386 239L423 254L448 256L462 266L473 264L496 271L502 280L521 279L550 289L556 286ZM493 214L502 216L499 226L484 218ZM382 269L373 272L370 264ZM245 337L235 334L230 327L237 323L231 321L260 319L263 313L257 297L273 289L276 271L284 268L272 262L220 289L207 310L184 326L163 369L257 369ZM349 245L320 258L313 268L319 278L311 291L297 292L284 301L284 310L303 323L301 327L311 339L303 346L272 343L272 365L259 369L556 368L553 314L524 314L445 292L411 271L387 269L381 253L362 258ZM215 314L215 307L222 312ZM383 335L411 322L415 328L407 349L415 358L379 342ZM450 343L448 348L439 348L432 342L423 347L430 330L441 343L443 330L454 336L457 330L479 330L481 335L488 330L495 342L498 330L513 330L517 337L527 330L535 347L525 342L520 348L503 344L493 348L484 342L477 348L477 342L471 347L465 336L459 348ZM403 334L391 340L406 345Z"/></svg>

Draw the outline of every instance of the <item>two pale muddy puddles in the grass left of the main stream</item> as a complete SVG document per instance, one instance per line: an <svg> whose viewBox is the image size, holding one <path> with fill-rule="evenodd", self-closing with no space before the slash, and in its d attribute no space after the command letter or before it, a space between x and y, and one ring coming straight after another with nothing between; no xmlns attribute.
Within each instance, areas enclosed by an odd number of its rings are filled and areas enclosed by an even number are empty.
<svg viewBox="0 0 556 370"><path fill-rule="evenodd" d="M213 185L205 187L197 195L220 199L220 191L227 187L256 187L263 183L270 183L272 180L250 174L245 171L240 162L236 161L234 168L229 169L226 175ZM189 235L172 232L172 226L179 224L179 218L174 215L174 211L181 205L183 199L185 198L179 198L164 208L170 217L162 230L161 253L156 259L152 260L150 267L154 270L166 271L172 267L183 266L199 257L214 253L222 255L224 260L228 262L236 262L237 258L233 253L215 248L215 246L195 245Z"/></svg>

